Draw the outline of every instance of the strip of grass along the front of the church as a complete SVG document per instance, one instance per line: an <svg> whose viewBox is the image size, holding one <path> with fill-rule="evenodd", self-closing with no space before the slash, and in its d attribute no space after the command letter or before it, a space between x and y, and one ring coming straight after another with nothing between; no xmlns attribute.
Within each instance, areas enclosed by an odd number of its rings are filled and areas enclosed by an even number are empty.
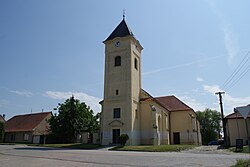
<svg viewBox="0 0 250 167"><path fill-rule="evenodd" d="M145 151L145 152L179 152L197 147L196 145L159 145L159 146L117 146L110 150Z"/></svg>

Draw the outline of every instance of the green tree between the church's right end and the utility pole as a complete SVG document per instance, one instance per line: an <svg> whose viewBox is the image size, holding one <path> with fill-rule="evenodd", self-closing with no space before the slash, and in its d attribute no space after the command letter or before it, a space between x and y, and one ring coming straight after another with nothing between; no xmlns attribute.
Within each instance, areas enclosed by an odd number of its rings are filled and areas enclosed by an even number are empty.
<svg viewBox="0 0 250 167"><path fill-rule="evenodd" d="M197 111L197 119L200 122L202 144L207 145L209 141L218 140L221 132L221 113L206 108Z"/></svg>

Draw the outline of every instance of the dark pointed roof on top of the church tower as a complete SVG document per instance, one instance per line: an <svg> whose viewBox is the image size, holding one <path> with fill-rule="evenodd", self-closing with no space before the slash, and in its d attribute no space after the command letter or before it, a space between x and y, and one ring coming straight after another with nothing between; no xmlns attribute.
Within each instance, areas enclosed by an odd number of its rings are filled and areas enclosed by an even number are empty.
<svg viewBox="0 0 250 167"><path fill-rule="evenodd" d="M122 19L121 23L115 28L115 30L109 35L109 37L105 41L112 40L116 37L125 37L128 35L132 35L132 31L129 29L125 19Z"/></svg>

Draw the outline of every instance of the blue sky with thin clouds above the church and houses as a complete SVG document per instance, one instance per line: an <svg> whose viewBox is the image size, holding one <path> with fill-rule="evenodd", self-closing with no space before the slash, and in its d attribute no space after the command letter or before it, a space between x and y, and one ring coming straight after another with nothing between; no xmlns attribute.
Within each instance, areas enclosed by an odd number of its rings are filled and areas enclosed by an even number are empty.
<svg viewBox="0 0 250 167"><path fill-rule="evenodd" d="M123 9L144 47L143 89L175 95L195 111L219 110L214 93L225 91L229 114L250 104L249 6L248 0L1 0L0 114L51 111L72 94L98 112L102 41Z"/></svg>

